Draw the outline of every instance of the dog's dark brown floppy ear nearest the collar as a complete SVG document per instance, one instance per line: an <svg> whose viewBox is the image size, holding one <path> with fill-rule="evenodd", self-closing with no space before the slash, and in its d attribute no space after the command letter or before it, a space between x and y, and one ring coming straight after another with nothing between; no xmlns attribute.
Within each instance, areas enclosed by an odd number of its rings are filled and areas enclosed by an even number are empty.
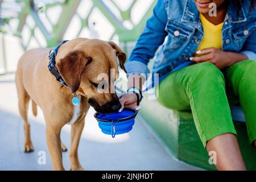
<svg viewBox="0 0 256 182"><path fill-rule="evenodd" d="M72 93L79 89L82 72L84 72L86 65L91 61L92 58L86 57L84 53L72 51L56 63L60 76L63 77Z"/></svg>

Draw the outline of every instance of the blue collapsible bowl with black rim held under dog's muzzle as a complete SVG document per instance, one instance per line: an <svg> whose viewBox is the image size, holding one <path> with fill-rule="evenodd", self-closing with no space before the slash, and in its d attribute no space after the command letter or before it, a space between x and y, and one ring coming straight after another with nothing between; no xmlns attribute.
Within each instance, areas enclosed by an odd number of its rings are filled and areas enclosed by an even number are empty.
<svg viewBox="0 0 256 182"><path fill-rule="evenodd" d="M115 135L124 134L133 129L137 113L136 109L125 107L120 113L118 111L110 114L95 113L94 117L102 133L112 135L114 138Z"/></svg>

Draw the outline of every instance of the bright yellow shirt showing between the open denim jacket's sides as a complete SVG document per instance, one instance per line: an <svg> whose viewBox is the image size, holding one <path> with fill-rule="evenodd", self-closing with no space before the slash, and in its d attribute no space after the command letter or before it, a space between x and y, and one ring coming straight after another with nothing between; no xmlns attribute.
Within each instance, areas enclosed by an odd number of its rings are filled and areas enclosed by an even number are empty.
<svg viewBox="0 0 256 182"><path fill-rule="evenodd" d="M199 47L196 49L196 51L200 51L201 49L215 47L218 49L222 48L222 26L223 22L220 24L213 24L209 22L204 15L200 14L201 22L204 28L204 38L199 45ZM196 56L199 56L196 54Z"/></svg>

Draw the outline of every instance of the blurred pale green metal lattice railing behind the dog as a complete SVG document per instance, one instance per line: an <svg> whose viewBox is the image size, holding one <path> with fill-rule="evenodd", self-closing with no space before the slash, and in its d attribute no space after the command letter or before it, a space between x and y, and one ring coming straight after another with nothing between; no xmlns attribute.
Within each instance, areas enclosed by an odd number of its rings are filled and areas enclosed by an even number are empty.
<svg viewBox="0 0 256 182"><path fill-rule="evenodd" d="M83 17L77 13L77 9L81 5L82 1L90 1L92 3L92 7L90 7L89 13L86 17ZM100 10L100 12L105 16L110 24L114 27L114 32L110 35L110 40L113 39L115 35L118 36L119 43L122 44L122 48L125 52L127 52L127 43L135 42L138 36L141 34L144 24L148 16L152 13L152 8L155 5L156 0L152 0L151 5L149 6L146 13L144 13L143 17L139 21L139 23L135 24L131 18L131 11L136 6L137 0L132 0L129 7L126 10L121 10L118 5L117 1L122 0L109 0L108 3L112 3L112 6L115 7L115 10L118 11L119 15L117 16L116 13L114 14L110 7L107 5L106 1L102 0L59 0L59 1L40 1L40 0L16 0L13 3L20 7L20 11L16 12L16 16L13 17L3 17L0 20L0 33L2 33L2 50L3 53L3 60L6 68L6 55L5 55L5 34L6 32L11 32L13 35L18 36L20 39L22 37L22 31L24 27L28 28L30 32L30 38L26 43L22 42L22 46L24 50L28 48L31 40L34 39L39 46L42 46L41 42L35 36L35 29L39 29L42 33L44 39L46 40L47 47L54 47L56 46L61 40L63 40L63 36L67 31L69 24L71 24L72 18L74 16L79 17L81 22L80 30L78 31L76 37L80 35L82 28L89 28L89 19L92 15L94 9ZM143 0L146 3L146 0ZM46 2L46 3L42 3ZM47 3L50 2L50 3ZM148 2L148 1L147 1ZM1 10L1 3L7 3L5 0L0 0L0 10ZM51 22L51 18L47 13L48 9L51 7L61 7L61 14L60 18L57 20L57 23L53 24ZM48 26L50 26L51 31L47 29L46 24L43 23L42 19L40 18L40 14L44 14L46 19L48 20ZM1 15L1 14L0 14ZM27 18L30 16L32 20L34 20L34 26L27 26ZM11 29L10 20L11 19L18 19L18 26L15 30ZM126 28L124 26L124 22L129 22L131 27ZM7 71L6 71L7 72Z"/></svg>

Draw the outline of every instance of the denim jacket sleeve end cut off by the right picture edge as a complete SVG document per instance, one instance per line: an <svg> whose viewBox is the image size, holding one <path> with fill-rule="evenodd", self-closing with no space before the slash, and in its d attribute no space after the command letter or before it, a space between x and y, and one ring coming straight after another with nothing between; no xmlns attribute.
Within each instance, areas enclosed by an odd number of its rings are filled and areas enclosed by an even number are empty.
<svg viewBox="0 0 256 182"><path fill-rule="evenodd" d="M240 53L246 55L249 60L256 60L256 30L246 39L243 44L242 51Z"/></svg>

